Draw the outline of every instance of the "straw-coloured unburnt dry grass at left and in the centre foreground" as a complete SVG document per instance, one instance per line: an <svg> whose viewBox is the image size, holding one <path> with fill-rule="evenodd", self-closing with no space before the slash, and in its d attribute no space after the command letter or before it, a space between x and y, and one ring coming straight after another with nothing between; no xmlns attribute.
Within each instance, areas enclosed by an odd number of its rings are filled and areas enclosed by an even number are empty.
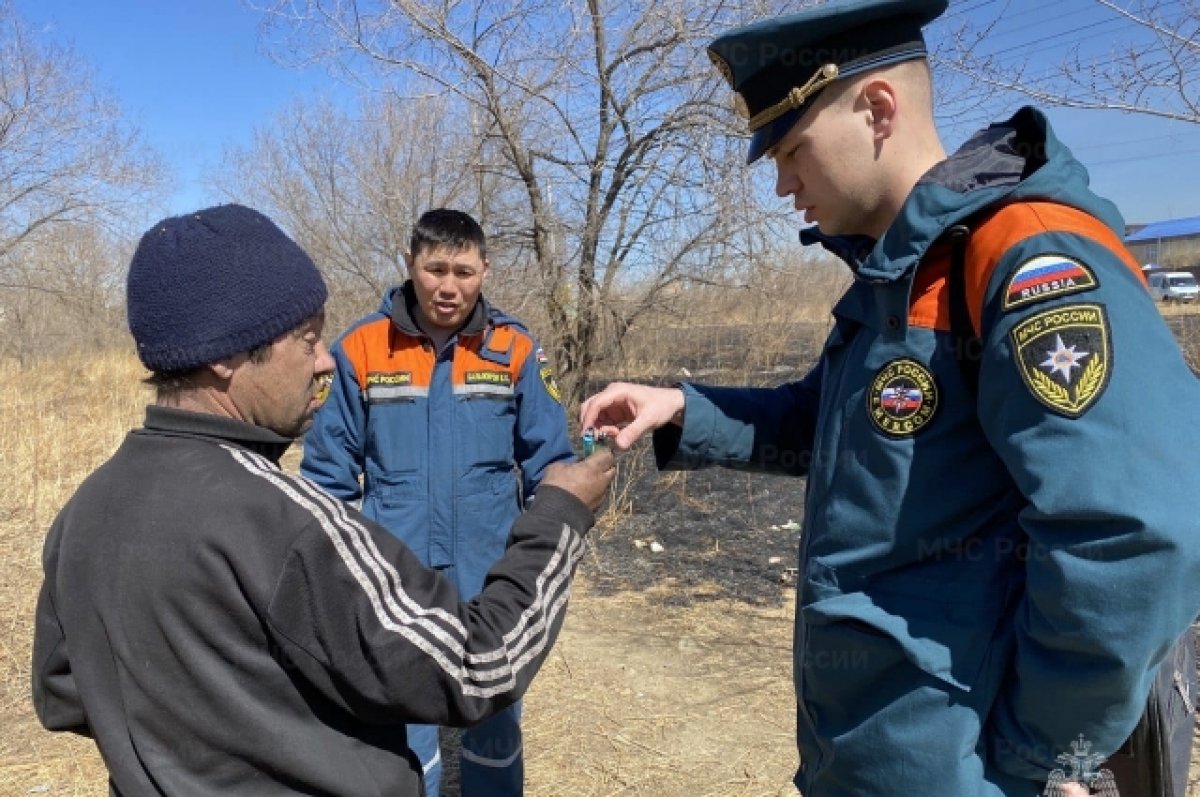
<svg viewBox="0 0 1200 797"><path fill-rule="evenodd" d="M142 376L127 354L0 360L0 795L107 795L91 742L38 726L29 659L46 529L140 421ZM294 454L286 465L294 467ZM629 501L623 483L613 507ZM694 603L680 610L655 595L602 597L582 580L527 699L530 797L796 793L790 594L767 609ZM1200 797L1200 786L1189 793Z"/></svg>

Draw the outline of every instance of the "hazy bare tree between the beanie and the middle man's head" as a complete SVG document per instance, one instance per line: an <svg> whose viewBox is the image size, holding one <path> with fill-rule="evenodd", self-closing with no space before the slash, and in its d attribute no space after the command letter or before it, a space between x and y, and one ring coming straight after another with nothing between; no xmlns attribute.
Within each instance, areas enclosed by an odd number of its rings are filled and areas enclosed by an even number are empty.
<svg viewBox="0 0 1200 797"><path fill-rule="evenodd" d="M229 150L217 190L269 211L312 253L346 322L400 278L408 232L431 206L476 209L479 185L462 161L478 145L425 98L367 96L356 112L296 104ZM342 317L347 316L347 317Z"/></svg>

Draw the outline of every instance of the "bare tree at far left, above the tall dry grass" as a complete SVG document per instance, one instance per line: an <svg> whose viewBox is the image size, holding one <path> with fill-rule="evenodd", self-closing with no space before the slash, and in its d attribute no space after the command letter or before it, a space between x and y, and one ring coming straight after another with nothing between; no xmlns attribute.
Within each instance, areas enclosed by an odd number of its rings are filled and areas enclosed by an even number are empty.
<svg viewBox="0 0 1200 797"><path fill-rule="evenodd" d="M88 65L0 0L0 289L30 286L22 258L55 227L116 224L161 175Z"/></svg>

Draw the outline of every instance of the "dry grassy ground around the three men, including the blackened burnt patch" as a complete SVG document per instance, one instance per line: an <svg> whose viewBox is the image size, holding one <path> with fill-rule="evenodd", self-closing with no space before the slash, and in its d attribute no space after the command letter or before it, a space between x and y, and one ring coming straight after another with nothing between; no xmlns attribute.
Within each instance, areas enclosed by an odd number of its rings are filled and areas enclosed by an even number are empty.
<svg viewBox="0 0 1200 797"><path fill-rule="evenodd" d="M128 358L0 362L0 797L107 795L91 742L37 725L30 641L46 528L138 423L139 376ZM794 797L802 493L778 477L656 474L647 449L623 457L614 511L526 700L530 797ZM1200 797L1195 754L1192 772Z"/></svg>

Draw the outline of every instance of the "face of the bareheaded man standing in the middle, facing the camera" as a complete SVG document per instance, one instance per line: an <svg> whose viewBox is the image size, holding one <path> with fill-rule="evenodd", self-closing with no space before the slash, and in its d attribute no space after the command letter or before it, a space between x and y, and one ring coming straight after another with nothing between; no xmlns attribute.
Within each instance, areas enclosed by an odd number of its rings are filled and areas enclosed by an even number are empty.
<svg viewBox="0 0 1200 797"><path fill-rule="evenodd" d="M479 247L422 248L407 260L422 324L443 331L462 326L479 301L487 274Z"/></svg>

